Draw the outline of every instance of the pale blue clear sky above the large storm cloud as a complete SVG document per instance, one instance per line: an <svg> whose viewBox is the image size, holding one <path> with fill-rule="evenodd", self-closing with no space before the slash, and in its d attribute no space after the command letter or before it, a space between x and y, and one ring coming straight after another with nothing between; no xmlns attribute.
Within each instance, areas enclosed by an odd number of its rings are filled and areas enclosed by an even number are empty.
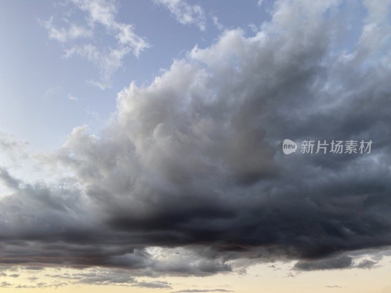
<svg viewBox="0 0 391 293"><path fill-rule="evenodd" d="M270 19L266 0L189 1L199 5L206 20L201 30L196 24L182 24L169 9L154 1L118 2L115 21L133 24L134 32L148 40L151 47L137 58L132 53L110 77L104 90L89 84L99 80L96 64L81 56L64 58L74 43L91 43L100 48L115 47L116 39L102 25L96 25L93 40L58 42L49 38L43 22L53 19L56 28L69 22L83 25L87 12L67 1L3 1L0 11L0 115L1 130L30 142L33 149L61 146L70 130L87 124L92 132L105 125L115 111L118 91L131 81L150 84L174 59L184 58L195 44L200 48L213 43L224 28L242 28L254 35L249 25ZM224 27L214 24L214 17ZM69 96L77 101L70 100Z"/></svg>

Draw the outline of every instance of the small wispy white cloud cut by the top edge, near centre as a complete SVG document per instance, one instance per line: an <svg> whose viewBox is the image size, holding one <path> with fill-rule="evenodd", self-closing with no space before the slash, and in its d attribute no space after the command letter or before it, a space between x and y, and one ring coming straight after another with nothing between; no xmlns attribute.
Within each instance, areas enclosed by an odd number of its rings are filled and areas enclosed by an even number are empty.
<svg viewBox="0 0 391 293"><path fill-rule="evenodd" d="M186 0L154 0L154 2L166 6L179 23L195 24L201 31L206 29L206 17L200 5L190 5Z"/></svg>

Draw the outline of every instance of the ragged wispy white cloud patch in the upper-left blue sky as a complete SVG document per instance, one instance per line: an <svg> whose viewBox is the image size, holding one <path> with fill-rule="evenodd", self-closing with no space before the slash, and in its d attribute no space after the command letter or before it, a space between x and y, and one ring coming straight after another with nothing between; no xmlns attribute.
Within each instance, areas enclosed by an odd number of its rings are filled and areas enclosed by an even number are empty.
<svg viewBox="0 0 391 293"><path fill-rule="evenodd" d="M99 68L100 80L90 80L89 83L99 88L111 87L112 75L123 65L123 58L129 53L139 57L141 52L151 45L146 38L138 36L134 32L134 25L118 22L115 20L119 3L115 0L72 0L72 7L77 8L87 14L87 23L77 25L69 22L69 17L65 20L68 28L56 27L53 24L53 17L48 21L39 20L48 30L49 38L57 40L66 45L65 58L79 55ZM99 37L97 25L105 28L106 35L114 37L116 46L110 45L107 36L103 36L104 44L97 46L90 42L72 42L75 39L87 41L92 36ZM86 40L87 39L87 40Z"/></svg>

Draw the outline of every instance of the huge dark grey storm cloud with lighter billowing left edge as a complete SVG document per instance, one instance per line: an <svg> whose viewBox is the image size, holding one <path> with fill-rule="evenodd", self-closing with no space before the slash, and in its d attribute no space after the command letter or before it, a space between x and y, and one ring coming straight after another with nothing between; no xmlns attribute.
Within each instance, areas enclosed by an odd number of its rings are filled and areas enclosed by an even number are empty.
<svg viewBox="0 0 391 293"><path fill-rule="evenodd" d="M389 247L389 5L365 5L347 51L344 5L278 1L256 36L226 31L150 86L130 84L99 136L73 129L41 157L67 177L33 184L2 169L13 191L1 197L0 263L186 276L280 258L308 271ZM286 156L285 138L374 143Z"/></svg>

